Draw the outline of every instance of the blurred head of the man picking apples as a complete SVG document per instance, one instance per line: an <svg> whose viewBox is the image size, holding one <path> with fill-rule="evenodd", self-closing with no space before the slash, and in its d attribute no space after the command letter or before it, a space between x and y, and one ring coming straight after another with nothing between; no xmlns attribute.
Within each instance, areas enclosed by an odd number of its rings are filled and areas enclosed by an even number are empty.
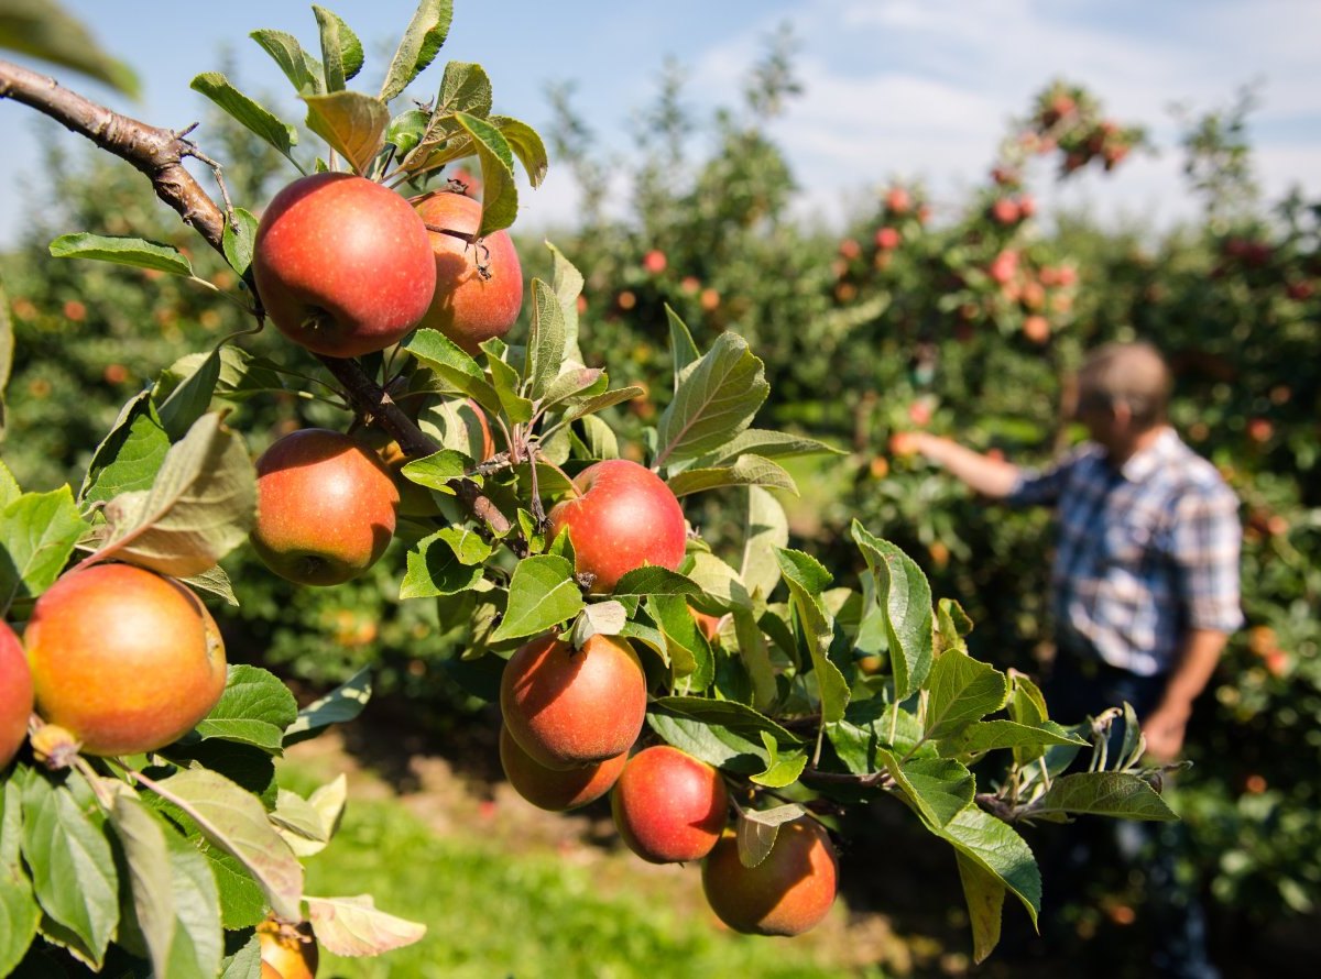
<svg viewBox="0 0 1321 979"><path fill-rule="evenodd" d="M1148 343L1107 343L1078 371L1075 416L1118 462L1165 425L1170 375Z"/></svg>

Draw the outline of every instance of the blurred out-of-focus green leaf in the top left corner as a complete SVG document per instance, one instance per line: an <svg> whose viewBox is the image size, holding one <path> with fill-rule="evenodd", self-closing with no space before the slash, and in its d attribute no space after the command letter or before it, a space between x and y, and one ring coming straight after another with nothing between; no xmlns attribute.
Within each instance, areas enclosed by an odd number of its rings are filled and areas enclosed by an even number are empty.
<svg viewBox="0 0 1321 979"><path fill-rule="evenodd" d="M112 58L55 0L5 0L0 5L0 47L81 71L133 99L141 96L133 70Z"/></svg>

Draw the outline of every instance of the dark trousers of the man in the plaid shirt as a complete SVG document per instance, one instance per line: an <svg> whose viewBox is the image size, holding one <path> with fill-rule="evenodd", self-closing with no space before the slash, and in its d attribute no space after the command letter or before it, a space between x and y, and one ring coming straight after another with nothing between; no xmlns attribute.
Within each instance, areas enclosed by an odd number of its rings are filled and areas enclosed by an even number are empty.
<svg viewBox="0 0 1321 979"><path fill-rule="evenodd" d="M1061 650L1044 694L1052 719L1073 724L1108 707L1132 705L1139 720L1151 714L1165 691L1166 677L1140 677L1095 660ZM1111 727L1110 763L1115 763L1123 723ZM1083 763L1090 752L1082 752ZM1144 925L1152 934L1152 974L1178 979L1215 979L1206 950L1206 916L1196 881L1178 875L1180 856L1190 850L1186 826L1081 817L1065 826L1042 826L1033 839L1041 863L1042 935L1061 941L1061 905L1086 893L1102 864L1119 859L1145 880Z"/></svg>

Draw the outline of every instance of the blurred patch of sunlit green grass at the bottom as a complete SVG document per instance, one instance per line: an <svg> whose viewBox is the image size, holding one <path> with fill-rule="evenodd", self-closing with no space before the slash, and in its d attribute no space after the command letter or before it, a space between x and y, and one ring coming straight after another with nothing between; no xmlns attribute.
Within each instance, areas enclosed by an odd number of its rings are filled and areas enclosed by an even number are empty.
<svg viewBox="0 0 1321 979"><path fill-rule="evenodd" d="M285 764L281 782L314 784ZM376 906L421 921L427 937L379 958L322 955L320 975L345 979L664 979L757 976L839 979L857 975L843 949L808 939L766 939L717 929L701 904L675 889L700 892L696 867L637 884L614 854L581 866L544 844L501 840L481 827L440 835L398 800L350 796L329 848L308 862L306 892L371 893ZM601 864L606 864L604 868ZM634 885L637 884L637 885ZM875 972L871 975L876 975Z"/></svg>

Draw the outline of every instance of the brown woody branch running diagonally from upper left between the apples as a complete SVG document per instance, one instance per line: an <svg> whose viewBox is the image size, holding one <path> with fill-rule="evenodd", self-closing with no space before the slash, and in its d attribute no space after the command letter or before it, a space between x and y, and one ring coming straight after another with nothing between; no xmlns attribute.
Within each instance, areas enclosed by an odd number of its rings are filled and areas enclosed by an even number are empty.
<svg viewBox="0 0 1321 979"><path fill-rule="evenodd" d="M152 182L156 197L178 211L217 252L225 255L225 211L202 190L184 160L209 162L184 133L139 121L65 88L55 79L0 59L0 99L13 99L86 136L107 153L124 160ZM188 131L184 131L188 132ZM390 395L374 383L355 360L320 356L325 368L343 385L359 414L375 420L399 441L410 457L435 453L437 446ZM480 487L468 479L450 480L460 501L497 537L511 524Z"/></svg>

